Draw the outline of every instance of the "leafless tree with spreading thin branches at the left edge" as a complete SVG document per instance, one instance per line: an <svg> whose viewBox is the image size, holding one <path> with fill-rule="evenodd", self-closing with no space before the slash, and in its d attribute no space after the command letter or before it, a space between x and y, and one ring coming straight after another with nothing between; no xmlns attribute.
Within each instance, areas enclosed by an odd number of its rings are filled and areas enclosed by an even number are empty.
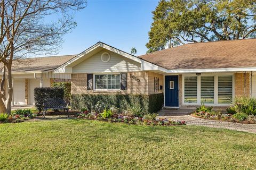
<svg viewBox="0 0 256 170"><path fill-rule="evenodd" d="M0 62L4 66L0 112L11 113L12 62L31 55L56 54L63 35L76 27L70 11L81 10L85 5L85 0L1 1ZM7 98L3 89L5 78Z"/></svg>

